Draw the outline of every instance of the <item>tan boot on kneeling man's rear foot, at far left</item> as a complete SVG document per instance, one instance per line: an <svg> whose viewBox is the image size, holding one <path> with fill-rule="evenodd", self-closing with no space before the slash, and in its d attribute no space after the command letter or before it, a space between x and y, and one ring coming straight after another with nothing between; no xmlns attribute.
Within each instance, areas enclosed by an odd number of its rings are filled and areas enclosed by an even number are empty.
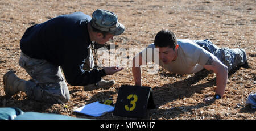
<svg viewBox="0 0 256 131"><path fill-rule="evenodd" d="M3 88L6 96L13 96L19 91L24 91L24 88L26 88L26 81L18 78L13 71L8 71L3 75Z"/></svg>

